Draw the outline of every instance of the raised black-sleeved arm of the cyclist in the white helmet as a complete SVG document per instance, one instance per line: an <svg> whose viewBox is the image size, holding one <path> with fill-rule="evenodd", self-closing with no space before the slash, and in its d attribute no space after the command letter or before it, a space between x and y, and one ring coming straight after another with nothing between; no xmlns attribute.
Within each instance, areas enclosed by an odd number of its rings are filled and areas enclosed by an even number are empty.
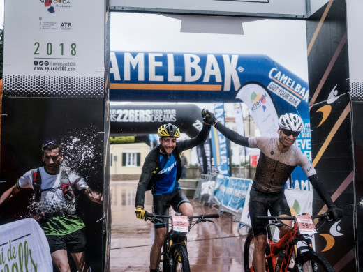
<svg viewBox="0 0 363 272"><path fill-rule="evenodd" d="M236 133L234 130L231 130L227 128L226 126L223 126L223 124L219 123L216 117L212 112L209 112L207 109L202 110L202 117L203 121L207 124L211 124L219 130L227 139L234 142L235 144L239 144L242 146L249 147L249 138L244 137L242 135L239 135L239 133ZM243 126L243 123L242 123Z"/></svg>

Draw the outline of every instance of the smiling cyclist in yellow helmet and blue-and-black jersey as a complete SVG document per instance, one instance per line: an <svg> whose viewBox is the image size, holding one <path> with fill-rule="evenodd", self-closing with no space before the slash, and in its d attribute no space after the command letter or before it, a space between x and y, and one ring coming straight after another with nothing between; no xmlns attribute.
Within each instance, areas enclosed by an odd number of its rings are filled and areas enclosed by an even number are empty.
<svg viewBox="0 0 363 272"><path fill-rule="evenodd" d="M180 131L177 126L168 123L158 128L160 136L158 146L152 149L142 166L142 173L136 191L136 217L144 218L145 191L153 194L153 213L166 215L168 207L182 213L183 216L193 216L193 207L182 192L178 180L182 176L182 161L180 156L186 149L192 149L202 144L209 136L211 126L204 124L200 133L192 139L177 142ZM161 248L166 234L164 223L155 223L155 239L150 252L150 271L158 271Z"/></svg>

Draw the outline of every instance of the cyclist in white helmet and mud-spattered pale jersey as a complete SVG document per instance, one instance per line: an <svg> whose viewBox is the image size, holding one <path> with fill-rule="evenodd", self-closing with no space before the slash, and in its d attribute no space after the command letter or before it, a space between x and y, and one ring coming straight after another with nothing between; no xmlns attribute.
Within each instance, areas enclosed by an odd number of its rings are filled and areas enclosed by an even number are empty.
<svg viewBox="0 0 363 272"><path fill-rule="evenodd" d="M290 208L284 194L284 186L290 174L297 165L302 167L318 195L327 205L327 213L334 220L343 216L343 210L336 208L332 199L324 190L323 184L316 175L316 170L297 146L293 145L304 124L297 114L287 113L279 118L279 137L244 137L219 123L212 112L202 110L203 121L212 124L227 139L236 144L260 149L260 158L256 167L250 192L249 213L253 234L256 236L253 264L255 271L265 271L265 248L267 232L265 220L256 216L291 216ZM284 221L291 225L291 222ZM288 232L287 227L281 227L280 238Z"/></svg>

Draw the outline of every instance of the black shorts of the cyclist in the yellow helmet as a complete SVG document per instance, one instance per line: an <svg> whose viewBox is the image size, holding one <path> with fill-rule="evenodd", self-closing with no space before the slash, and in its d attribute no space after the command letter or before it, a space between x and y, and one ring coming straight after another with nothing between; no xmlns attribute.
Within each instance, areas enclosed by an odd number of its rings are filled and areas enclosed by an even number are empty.
<svg viewBox="0 0 363 272"><path fill-rule="evenodd" d="M183 203L191 203L188 198L182 192L182 189L177 189L171 194L164 195L154 195L152 211L155 214L160 214L166 216L168 214L168 209L172 206L172 209L176 212L179 210L179 206ZM163 223L156 222L154 227L156 229L161 227L166 227L167 219L163 219Z"/></svg>

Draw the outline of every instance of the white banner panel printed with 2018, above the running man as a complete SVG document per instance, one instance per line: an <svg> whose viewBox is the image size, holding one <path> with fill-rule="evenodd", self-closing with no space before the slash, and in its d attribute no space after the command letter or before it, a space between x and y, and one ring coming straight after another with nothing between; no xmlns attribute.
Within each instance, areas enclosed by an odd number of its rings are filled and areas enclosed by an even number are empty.
<svg viewBox="0 0 363 272"><path fill-rule="evenodd" d="M104 1L6 1L5 10L4 96L103 97L105 56L94 52L105 52L95 38L105 37Z"/></svg>

